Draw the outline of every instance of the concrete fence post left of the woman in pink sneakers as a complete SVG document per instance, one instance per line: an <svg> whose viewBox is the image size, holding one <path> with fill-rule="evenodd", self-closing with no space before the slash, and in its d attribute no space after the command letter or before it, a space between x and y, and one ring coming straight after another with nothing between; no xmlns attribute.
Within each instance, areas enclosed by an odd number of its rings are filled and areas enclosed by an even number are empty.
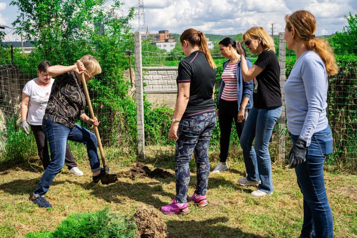
<svg viewBox="0 0 357 238"><path fill-rule="evenodd" d="M136 117L137 117L137 149L138 156L145 159L145 130L144 130L144 98L142 86L141 34L134 33L135 53L135 88L136 88Z"/></svg>

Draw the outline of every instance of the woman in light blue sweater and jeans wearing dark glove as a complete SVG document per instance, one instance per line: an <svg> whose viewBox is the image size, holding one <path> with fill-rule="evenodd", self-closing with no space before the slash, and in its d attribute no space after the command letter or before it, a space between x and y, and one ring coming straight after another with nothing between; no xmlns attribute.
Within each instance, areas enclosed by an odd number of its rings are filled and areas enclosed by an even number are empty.
<svg viewBox="0 0 357 238"><path fill-rule="evenodd" d="M315 37L316 19L300 10L285 16L284 38L296 63L285 85L287 127L293 142L289 168L295 168L303 194L304 221L300 238L333 237L323 164L332 153L332 133L326 117L327 76L338 66L327 41Z"/></svg>

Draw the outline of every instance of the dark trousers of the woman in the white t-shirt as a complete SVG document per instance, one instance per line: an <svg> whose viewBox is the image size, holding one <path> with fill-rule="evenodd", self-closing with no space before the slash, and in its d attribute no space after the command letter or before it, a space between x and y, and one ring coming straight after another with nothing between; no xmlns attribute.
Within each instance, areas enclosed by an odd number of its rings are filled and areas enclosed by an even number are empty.
<svg viewBox="0 0 357 238"><path fill-rule="evenodd" d="M50 164L50 156L48 153L48 146L47 146L47 137L42 130L42 126L40 125L30 125L31 131L34 133L35 141L37 145L37 152L39 153L40 159L42 161L42 166L44 170L46 170L47 166ZM71 148L66 144L66 157L65 157L65 164L68 169L73 167L77 167L76 162L72 156Z"/></svg>

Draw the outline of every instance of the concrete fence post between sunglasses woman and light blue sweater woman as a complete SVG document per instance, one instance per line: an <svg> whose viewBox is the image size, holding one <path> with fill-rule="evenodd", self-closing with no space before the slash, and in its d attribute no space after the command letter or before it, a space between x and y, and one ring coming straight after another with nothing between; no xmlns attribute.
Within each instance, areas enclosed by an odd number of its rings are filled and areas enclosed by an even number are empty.
<svg viewBox="0 0 357 238"><path fill-rule="evenodd" d="M285 40L284 32L279 32L279 65L280 65L280 89L281 89L281 100L283 103L281 116L278 119L280 124L279 128L279 161L281 163L285 162L285 95L284 95L284 83L286 81L285 76Z"/></svg>

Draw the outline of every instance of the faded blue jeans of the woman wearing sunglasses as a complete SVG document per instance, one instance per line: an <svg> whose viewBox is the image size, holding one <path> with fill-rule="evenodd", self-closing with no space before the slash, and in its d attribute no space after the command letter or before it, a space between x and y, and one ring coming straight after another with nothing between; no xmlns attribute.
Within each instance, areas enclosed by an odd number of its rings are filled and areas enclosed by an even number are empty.
<svg viewBox="0 0 357 238"><path fill-rule="evenodd" d="M258 189L270 193L273 191L273 178L271 174L269 140L275 122L281 114L281 107L254 108L252 107L243 128L241 147L250 181L261 181ZM253 147L253 140L255 143Z"/></svg>

